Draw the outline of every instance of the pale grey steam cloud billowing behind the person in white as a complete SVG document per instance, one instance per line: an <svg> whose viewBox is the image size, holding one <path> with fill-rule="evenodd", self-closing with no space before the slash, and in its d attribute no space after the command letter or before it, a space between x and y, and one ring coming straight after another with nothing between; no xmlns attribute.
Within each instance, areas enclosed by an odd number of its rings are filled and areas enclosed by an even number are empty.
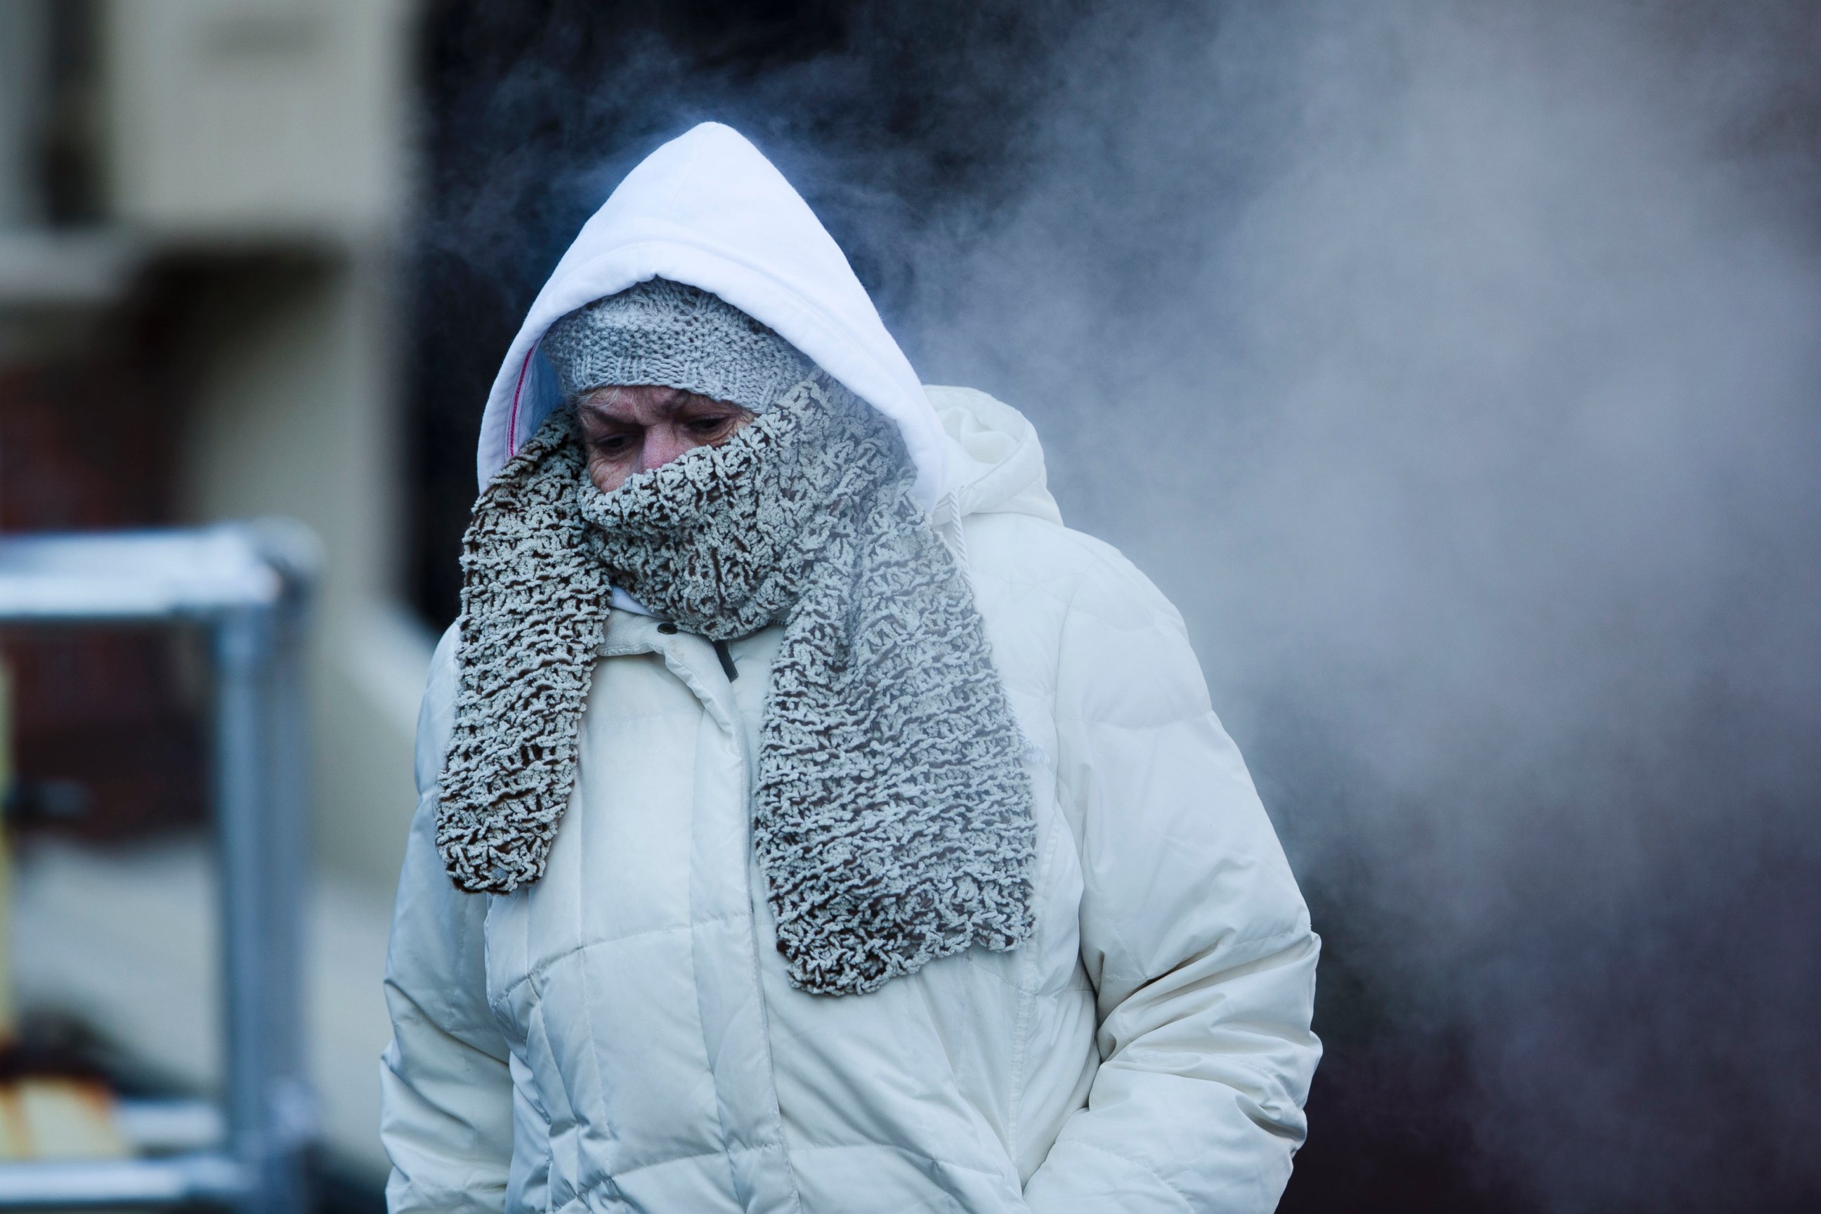
<svg viewBox="0 0 1821 1214"><path fill-rule="evenodd" d="M758 78L641 44L574 98L639 140L432 244L535 278L654 137L745 129L925 380L1023 410L1182 608L1329 941L1311 1154L1348 1121L1499 1209L1812 1203L1814 11L1058 4L910 67L914 9L870 11ZM934 133L869 142L905 73Z"/></svg>

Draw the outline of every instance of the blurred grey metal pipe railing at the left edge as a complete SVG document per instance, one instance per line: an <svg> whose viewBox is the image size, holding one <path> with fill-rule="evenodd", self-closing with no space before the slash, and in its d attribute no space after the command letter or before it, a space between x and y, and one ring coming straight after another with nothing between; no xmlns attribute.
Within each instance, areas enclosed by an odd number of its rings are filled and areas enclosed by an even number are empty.
<svg viewBox="0 0 1821 1214"><path fill-rule="evenodd" d="M0 1085L0 1154L13 1159L0 1165L0 1209L306 1209L315 1118L299 1012L308 808L299 659L319 562L315 539L290 522L0 541L7 626L175 624L208 635L226 1027L226 1138L215 1148L127 1158L133 1116L97 1079L22 1074ZM13 1054L15 1068L31 1067L29 1050ZM157 1108L137 1112L160 1121ZM208 1108L162 1110L166 1123L206 1118ZM157 1127L140 1143L155 1138Z"/></svg>

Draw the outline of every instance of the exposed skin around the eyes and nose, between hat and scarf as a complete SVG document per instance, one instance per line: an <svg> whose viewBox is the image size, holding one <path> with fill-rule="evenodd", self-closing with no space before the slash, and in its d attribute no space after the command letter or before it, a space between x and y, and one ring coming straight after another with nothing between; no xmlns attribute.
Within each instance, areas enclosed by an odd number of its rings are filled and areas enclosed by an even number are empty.
<svg viewBox="0 0 1821 1214"><path fill-rule="evenodd" d="M595 388L575 402L588 479L603 493L636 471L699 446L721 446L752 420L748 410L681 388Z"/></svg>

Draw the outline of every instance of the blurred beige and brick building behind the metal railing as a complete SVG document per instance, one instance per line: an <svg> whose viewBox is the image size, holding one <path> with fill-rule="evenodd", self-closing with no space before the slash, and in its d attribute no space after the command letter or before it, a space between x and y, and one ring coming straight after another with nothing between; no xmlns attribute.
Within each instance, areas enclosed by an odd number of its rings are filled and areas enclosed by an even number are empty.
<svg viewBox="0 0 1821 1214"><path fill-rule="evenodd" d="M371 1185L390 890L433 632L404 606L402 0L0 0L0 528L291 515L311 661L311 1047ZM193 655L11 637L13 981L27 1034L215 1077Z"/></svg>

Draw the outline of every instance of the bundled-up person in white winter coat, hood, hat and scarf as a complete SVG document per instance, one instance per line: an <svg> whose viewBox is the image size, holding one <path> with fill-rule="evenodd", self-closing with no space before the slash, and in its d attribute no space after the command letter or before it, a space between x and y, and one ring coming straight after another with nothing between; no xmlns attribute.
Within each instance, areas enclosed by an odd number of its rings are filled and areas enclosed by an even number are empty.
<svg viewBox="0 0 1821 1214"><path fill-rule="evenodd" d="M1275 1207L1318 941L1182 621L739 135L583 228L479 477L393 1210Z"/></svg>

